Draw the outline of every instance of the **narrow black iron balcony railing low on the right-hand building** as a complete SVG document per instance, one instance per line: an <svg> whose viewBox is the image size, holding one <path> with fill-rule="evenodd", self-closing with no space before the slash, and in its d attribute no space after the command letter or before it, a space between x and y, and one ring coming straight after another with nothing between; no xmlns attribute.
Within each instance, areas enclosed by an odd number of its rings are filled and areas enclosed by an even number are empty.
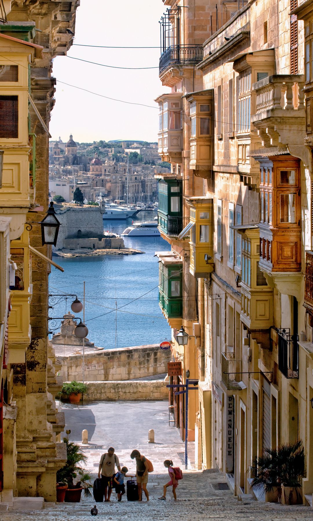
<svg viewBox="0 0 313 521"><path fill-rule="evenodd" d="M278 330L278 368L285 378L299 378L298 335L289 328Z"/></svg>

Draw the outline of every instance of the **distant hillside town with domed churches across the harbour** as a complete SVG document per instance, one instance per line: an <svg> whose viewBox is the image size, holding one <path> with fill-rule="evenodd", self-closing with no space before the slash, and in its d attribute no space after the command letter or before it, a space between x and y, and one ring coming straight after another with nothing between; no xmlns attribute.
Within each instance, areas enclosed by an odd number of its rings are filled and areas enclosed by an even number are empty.
<svg viewBox="0 0 313 521"><path fill-rule="evenodd" d="M146 141L77 143L73 135L49 143L49 192L73 200L79 187L87 201L102 195L112 201L147 203L157 200L155 173L170 171L161 162L158 145ZM128 175L127 175L128 172Z"/></svg>

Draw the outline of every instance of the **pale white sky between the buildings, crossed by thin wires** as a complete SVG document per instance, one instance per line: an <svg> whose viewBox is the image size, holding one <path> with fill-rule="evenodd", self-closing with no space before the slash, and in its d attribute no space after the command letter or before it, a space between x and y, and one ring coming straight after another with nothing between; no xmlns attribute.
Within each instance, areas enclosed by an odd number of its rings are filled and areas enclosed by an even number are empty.
<svg viewBox="0 0 313 521"><path fill-rule="evenodd" d="M80 0L76 12L75 44L115 47L152 46L151 49L118 49L73 45L67 56L53 60L56 103L50 133L53 139L69 134L78 142L111 139L156 141L158 104L155 98L169 89L159 79L162 0ZM156 67L123 70L92 65L76 57L118 67ZM80 89L142 107L108 100Z"/></svg>

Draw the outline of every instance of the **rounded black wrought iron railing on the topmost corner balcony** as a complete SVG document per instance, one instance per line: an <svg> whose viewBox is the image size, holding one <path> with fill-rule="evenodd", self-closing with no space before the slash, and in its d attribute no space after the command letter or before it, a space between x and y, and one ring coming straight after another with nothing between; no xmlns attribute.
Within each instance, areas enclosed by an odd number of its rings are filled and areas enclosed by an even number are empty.
<svg viewBox="0 0 313 521"><path fill-rule="evenodd" d="M160 57L159 75L170 65L193 65L202 59L202 45L172 45Z"/></svg>

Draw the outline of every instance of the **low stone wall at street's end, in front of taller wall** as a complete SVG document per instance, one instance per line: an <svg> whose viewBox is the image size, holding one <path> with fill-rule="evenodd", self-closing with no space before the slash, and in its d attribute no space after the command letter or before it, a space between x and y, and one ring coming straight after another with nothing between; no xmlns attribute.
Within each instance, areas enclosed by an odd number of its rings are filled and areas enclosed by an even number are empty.
<svg viewBox="0 0 313 521"><path fill-rule="evenodd" d="M86 382L85 400L166 400L168 389L163 380Z"/></svg>

